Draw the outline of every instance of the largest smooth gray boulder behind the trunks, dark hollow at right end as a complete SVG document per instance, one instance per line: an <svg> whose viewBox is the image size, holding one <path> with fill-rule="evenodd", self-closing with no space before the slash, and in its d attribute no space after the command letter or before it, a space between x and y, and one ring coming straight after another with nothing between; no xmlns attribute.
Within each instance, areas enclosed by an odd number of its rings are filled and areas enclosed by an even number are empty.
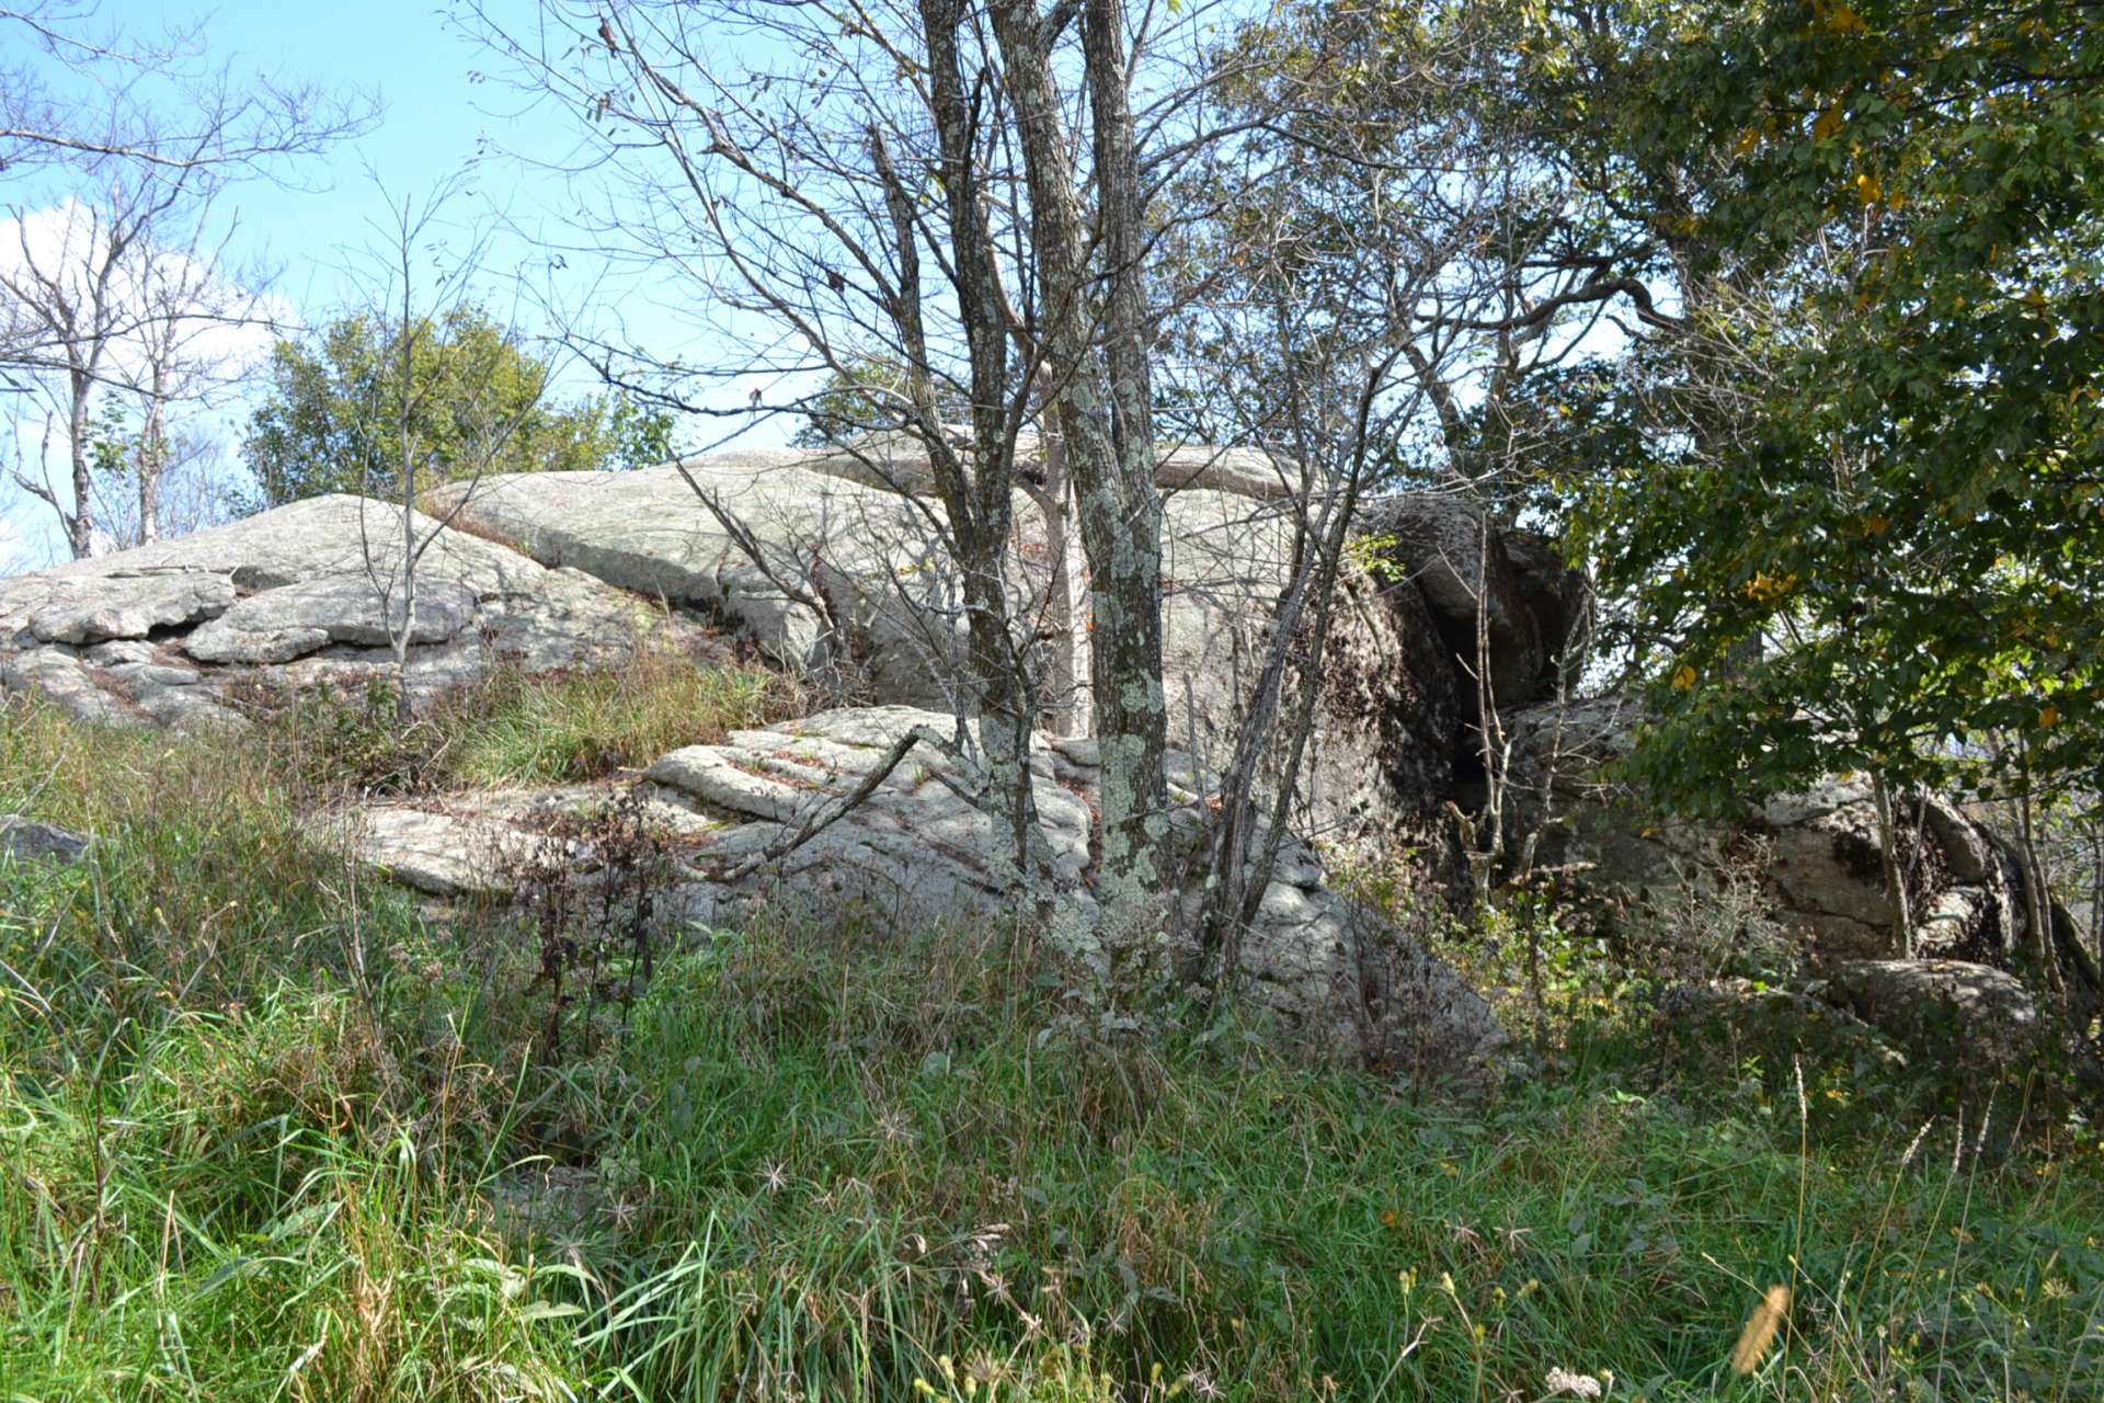
<svg viewBox="0 0 2104 1403"><path fill-rule="evenodd" d="M1275 490L1281 475L1262 454L1164 450L1161 480L1176 484L1161 543L1170 738L1206 768L1233 749L1288 585L1294 505ZM940 507L911 494L926 486L926 461L909 446L865 444L509 475L469 501L440 501L541 564L707 610L844 700L968 709L962 589L940 547ZM1296 785L1298 820L1332 837L1420 820L1445 795L1475 713L1477 581L1490 583L1500 705L1553 690L1559 658L1546 639L1584 610L1582 581L1538 543L1515 562L1502 545L1511 532L1494 528L1485 557L1483 520L1456 496L1387 499L1368 520L1395 547L1347 585L1321 669L1323 730ZM1012 612L1041 616L1050 553L1025 492L1014 522Z"/></svg>

